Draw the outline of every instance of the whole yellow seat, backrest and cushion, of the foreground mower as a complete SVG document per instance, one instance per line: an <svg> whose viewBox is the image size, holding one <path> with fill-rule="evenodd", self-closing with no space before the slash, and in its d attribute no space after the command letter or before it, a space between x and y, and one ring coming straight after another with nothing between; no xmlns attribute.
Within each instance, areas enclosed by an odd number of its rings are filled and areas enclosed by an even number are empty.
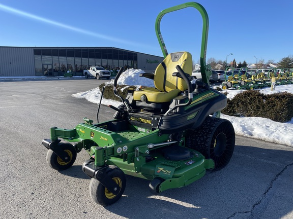
<svg viewBox="0 0 293 219"><path fill-rule="evenodd" d="M187 84L183 79L172 76L173 72L178 72L176 69L177 65L180 65L183 71L191 76L191 54L189 52L170 53L156 68L154 74L155 88L150 87L134 91L133 99L143 102L149 101L160 103L169 102L174 97L179 96L182 91L187 89Z"/></svg>

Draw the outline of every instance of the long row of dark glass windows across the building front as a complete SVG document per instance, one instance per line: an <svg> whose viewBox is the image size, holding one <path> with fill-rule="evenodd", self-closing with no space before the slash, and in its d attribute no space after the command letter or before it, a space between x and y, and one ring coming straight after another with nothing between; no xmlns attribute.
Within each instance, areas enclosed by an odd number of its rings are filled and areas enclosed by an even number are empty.
<svg viewBox="0 0 293 219"><path fill-rule="evenodd" d="M137 53L113 48L34 49L34 58L36 76L62 76L69 69L82 75L91 66L137 68Z"/></svg>

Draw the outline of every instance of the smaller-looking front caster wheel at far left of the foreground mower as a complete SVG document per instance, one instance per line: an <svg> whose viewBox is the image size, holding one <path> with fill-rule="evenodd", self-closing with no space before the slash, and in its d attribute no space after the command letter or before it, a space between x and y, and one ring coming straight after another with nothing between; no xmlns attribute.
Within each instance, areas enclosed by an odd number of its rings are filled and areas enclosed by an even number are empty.
<svg viewBox="0 0 293 219"><path fill-rule="evenodd" d="M60 147L63 151L65 151L68 154L69 161L63 161L51 149L49 149L47 152L47 163L51 168L55 170L68 169L75 162L77 155L76 150L74 146L70 143L59 143L58 147Z"/></svg>

